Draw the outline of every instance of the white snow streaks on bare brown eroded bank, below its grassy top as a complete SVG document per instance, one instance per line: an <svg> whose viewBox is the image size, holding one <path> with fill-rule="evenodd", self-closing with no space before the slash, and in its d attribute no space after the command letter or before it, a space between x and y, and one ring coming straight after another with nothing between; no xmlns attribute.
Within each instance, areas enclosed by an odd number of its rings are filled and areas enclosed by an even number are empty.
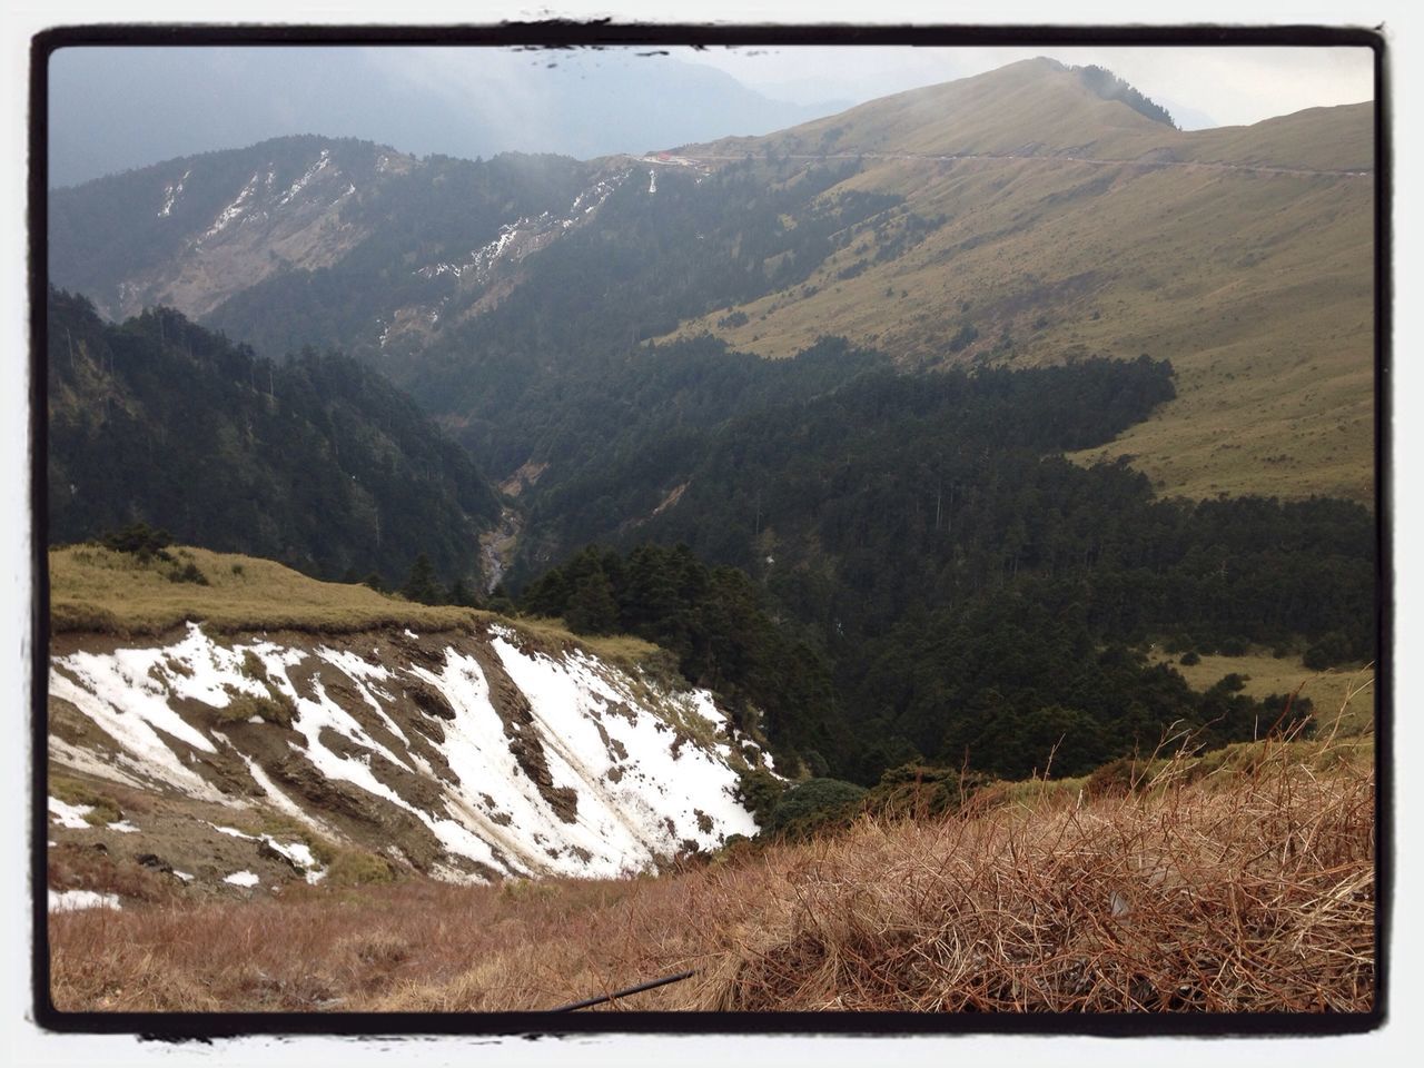
<svg viewBox="0 0 1424 1068"><path fill-rule="evenodd" d="M498 625L215 641L191 624L56 654L50 693L117 746L54 739L60 768L271 809L439 877L615 877L756 832L735 796L749 739L711 693Z"/></svg>

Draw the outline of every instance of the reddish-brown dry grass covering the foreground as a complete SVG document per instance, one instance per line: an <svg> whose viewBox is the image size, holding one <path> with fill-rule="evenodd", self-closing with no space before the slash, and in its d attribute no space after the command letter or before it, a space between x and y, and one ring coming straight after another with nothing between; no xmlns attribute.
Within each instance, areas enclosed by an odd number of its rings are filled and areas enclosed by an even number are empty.
<svg viewBox="0 0 1424 1068"><path fill-rule="evenodd" d="M1368 762L1277 746L658 879L57 914L53 991L61 1011L540 1010L696 968L615 1008L1366 1011L1373 853Z"/></svg>

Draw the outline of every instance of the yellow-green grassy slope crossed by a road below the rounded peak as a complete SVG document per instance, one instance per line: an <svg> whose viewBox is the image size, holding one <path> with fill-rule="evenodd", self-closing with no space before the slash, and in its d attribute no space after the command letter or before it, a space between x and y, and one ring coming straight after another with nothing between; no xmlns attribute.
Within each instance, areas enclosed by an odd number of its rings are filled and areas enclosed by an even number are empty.
<svg viewBox="0 0 1424 1068"><path fill-rule="evenodd" d="M987 107L1000 98L1002 107ZM926 127L930 114L943 117ZM708 330L766 356L843 333L916 363L943 353L970 322L980 339L960 359L1146 352L1173 362L1178 400L1081 460L1134 456L1159 488L1192 497L1373 501L1373 182L1062 158L1366 169L1371 105L1180 134L1031 61L703 151L820 151L837 128L830 151L1027 145L1042 158L867 159L827 195L894 192L947 224L909 253L837 281L837 271L874 258L874 236L857 234L810 279L820 286L813 296L775 293L743 308L745 326L718 328L719 309L679 333Z"/></svg>

